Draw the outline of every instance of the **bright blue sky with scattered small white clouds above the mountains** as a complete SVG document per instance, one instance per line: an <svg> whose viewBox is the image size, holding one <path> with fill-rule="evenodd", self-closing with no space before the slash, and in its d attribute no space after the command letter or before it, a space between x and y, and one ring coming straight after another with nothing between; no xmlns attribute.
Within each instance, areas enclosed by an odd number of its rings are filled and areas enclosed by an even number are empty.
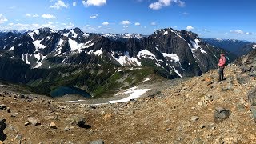
<svg viewBox="0 0 256 144"><path fill-rule="evenodd" d="M256 42L255 6L255 0L2 0L0 30L153 34L172 27Z"/></svg>

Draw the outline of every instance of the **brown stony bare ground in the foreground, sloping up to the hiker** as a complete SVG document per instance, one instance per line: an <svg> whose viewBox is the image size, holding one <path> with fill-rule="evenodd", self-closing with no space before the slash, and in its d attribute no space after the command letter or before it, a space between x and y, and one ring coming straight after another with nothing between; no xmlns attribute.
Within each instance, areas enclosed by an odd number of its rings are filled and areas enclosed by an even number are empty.
<svg viewBox="0 0 256 144"><path fill-rule="evenodd" d="M22 95L2 87L0 140L256 143L256 124L247 98L256 80L237 66L227 66L225 72L222 82L217 82L218 70L211 70L200 77L171 82L169 88L148 97L99 106Z"/></svg>

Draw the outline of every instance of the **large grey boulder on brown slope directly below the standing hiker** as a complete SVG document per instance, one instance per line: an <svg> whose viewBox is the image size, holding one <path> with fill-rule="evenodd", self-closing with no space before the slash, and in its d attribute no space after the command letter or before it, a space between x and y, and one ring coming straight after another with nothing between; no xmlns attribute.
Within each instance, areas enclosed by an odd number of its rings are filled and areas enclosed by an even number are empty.
<svg viewBox="0 0 256 144"><path fill-rule="evenodd" d="M223 107L217 107L214 111L214 122L219 123L229 118L230 110L226 110Z"/></svg>

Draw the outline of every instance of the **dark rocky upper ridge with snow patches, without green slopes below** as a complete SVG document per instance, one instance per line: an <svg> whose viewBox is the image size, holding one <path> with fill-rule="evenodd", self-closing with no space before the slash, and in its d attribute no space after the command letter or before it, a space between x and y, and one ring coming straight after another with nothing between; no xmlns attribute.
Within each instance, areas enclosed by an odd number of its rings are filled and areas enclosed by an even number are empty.
<svg viewBox="0 0 256 144"><path fill-rule="evenodd" d="M106 34L86 34L78 28L59 31L42 28L18 36L10 32L6 37L2 55L22 59L32 68L47 69L60 65L114 63L153 65L174 77L194 76L216 68L220 51L202 42L197 34L173 29L158 30L148 38L125 34L126 42L110 41Z"/></svg>

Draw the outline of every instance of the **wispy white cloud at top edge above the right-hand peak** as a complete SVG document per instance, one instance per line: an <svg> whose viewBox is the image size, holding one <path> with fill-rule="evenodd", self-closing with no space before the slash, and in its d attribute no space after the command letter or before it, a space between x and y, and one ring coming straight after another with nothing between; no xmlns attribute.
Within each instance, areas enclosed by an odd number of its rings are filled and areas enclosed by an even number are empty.
<svg viewBox="0 0 256 144"><path fill-rule="evenodd" d="M185 2L182 2L181 0L158 0L158 2L150 3L149 7L153 10L159 10L164 6L170 6L172 2L178 4L178 6L181 7L185 6Z"/></svg>

